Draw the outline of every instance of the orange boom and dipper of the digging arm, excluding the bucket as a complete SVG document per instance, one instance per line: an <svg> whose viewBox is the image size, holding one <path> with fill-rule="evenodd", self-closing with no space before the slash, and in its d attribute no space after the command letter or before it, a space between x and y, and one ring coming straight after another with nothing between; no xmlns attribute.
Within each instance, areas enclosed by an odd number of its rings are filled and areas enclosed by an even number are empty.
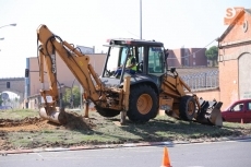
<svg viewBox="0 0 251 167"><path fill-rule="evenodd" d="M92 102L97 102L99 95L96 92L93 79L97 82L98 86L101 86L101 82L97 76L93 75L93 68L89 64L89 57L83 55L67 41L62 41L61 38L53 35L46 25L41 25L37 31L38 40L41 43L39 47L40 68L43 68L43 60L46 61L49 82L51 84L51 94L57 99L58 84L57 84L57 68L56 68L56 51L59 57L64 61L67 67L74 74L76 80L83 85L86 91L86 96ZM59 39L59 41L57 40ZM44 82L44 71L40 70L40 82Z"/></svg>

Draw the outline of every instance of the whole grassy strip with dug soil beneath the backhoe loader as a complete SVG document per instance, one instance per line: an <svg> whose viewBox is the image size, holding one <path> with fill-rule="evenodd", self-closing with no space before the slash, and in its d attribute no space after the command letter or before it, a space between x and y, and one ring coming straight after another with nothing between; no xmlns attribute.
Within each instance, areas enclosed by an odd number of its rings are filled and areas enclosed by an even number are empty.
<svg viewBox="0 0 251 167"><path fill-rule="evenodd" d="M217 128L166 116L143 124L127 121L125 126L121 126L119 118L108 119L97 112L93 112L91 118L83 118L76 112L68 111L67 123L57 124L44 120L39 115L10 119L11 114L13 112L5 112L2 117L0 115L0 151L104 143L217 141L225 136L251 135L251 123L224 123L223 128Z"/></svg>

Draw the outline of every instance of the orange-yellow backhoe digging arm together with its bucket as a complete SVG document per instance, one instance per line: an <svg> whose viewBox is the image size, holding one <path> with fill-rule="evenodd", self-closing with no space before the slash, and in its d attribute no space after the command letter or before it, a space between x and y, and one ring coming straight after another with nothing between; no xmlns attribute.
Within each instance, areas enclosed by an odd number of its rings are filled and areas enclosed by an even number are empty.
<svg viewBox="0 0 251 167"><path fill-rule="evenodd" d="M63 115L64 110L61 102L62 95L60 96L58 91L60 85L57 80L56 52L83 86L83 98L91 99L95 105L106 106L106 96L103 94L105 87L96 75L92 64L89 64L88 56L83 55L76 48L52 34L46 25L38 27L37 38L40 43L38 47L39 80L44 85L44 67L46 67L50 84L49 90L45 90L44 86L40 90L40 95L45 100L44 108L40 109L43 118L58 123L64 122L63 117L59 119L60 112ZM47 96L52 97L52 100L48 102Z"/></svg>

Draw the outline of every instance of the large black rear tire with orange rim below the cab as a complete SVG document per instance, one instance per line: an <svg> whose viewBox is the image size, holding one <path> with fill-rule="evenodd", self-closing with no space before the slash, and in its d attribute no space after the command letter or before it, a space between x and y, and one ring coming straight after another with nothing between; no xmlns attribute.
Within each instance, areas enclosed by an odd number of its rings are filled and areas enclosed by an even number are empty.
<svg viewBox="0 0 251 167"><path fill-rule="evenodd" d="M128 118L133 122L147 122L157 116L158 98L148 85L132 86L129 97Z"/></svg>

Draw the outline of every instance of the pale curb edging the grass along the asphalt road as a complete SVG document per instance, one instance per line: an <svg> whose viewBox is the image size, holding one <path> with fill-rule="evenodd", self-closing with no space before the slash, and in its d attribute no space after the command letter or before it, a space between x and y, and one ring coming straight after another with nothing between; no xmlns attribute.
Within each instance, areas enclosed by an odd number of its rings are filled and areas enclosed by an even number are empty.
<svg viewBox="0 0 251 167"><path fill-rule="evenodd" d="M175 142L145 142L145 143L125 143L125 144L106 144L106 145L85 145L85 146L72 146L72 147L48 147L48 148L33 148L33 150L11 150L11 151L0 151L0 155L7 156L8 154L22 154L22 153L40 153L40 152L62 152L62 151L80 151L80 150L97 150L97 148L118 148L118 147L138 147L138 146L174 146L177 144L196 144L196 143L215 143L215 142L226 142L226 141L237 141L237 140L248 140L251 135L237 136L237 138L222 138L216 141L175 141Z"/></svg>

